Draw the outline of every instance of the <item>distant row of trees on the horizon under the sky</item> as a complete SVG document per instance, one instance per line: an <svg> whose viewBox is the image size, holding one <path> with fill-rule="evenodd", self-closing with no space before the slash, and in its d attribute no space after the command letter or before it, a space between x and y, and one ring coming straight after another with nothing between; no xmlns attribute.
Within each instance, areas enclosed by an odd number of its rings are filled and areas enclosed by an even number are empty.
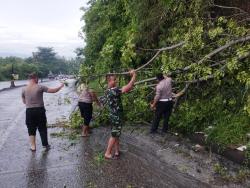
<svg viewBox="0 0 250 188"><path fill-rule="evenodd" d="M53 74L77 74L81 59L65 59L56 55L53 48L38 47L32 57L0 57L0 81L11 80L12 74L18 74L19 79L27 79L31 72L46 78L51 71Z"/></svg>

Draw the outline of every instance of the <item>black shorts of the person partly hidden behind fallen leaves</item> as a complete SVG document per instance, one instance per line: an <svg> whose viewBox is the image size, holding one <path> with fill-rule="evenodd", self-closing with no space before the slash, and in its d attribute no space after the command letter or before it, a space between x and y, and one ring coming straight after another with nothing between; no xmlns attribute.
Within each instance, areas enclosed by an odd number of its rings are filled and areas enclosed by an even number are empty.
<svg viewBox="0 0 250 188"><path fill-rule="evenodd" d="M89 126L93 113L92 103L79 102L78 106L81 112L81 116L84 119L84 125Z"/></svg>

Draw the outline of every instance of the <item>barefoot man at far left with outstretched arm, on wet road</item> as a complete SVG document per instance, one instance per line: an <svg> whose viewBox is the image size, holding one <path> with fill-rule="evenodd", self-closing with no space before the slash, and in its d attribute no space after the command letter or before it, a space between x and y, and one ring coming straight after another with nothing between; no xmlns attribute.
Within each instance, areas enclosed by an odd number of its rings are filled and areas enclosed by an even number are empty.
<svg viewBox="0 0 250 188"><path fill-rule="evenodd" d="M47 134L47 118L45 114L43 93L56 93L64 84L57 88L48 88L38 85L38 76L34 73L29 75L29 83L22 90L22 100L26 105L26 125L28 128L31 151L36 151L36 130L38 129L44 148L49 149Z"/></svg>

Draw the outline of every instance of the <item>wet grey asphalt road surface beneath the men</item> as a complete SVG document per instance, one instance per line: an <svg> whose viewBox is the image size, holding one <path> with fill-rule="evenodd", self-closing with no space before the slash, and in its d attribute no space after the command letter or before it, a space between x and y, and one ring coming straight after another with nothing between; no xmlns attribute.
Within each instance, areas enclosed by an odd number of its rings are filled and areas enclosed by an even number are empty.
<svg viewBox="0 0 250 188"><path fill-rule="evenodd" d="M56 81L44 83L56 86ZM209 187L194 177L179 172L151 155L150 148L135 138L122 137L120 160L103 161L109 131L100 128L89 138L69 140L49 136L52 149L42 150L39 136L37 151L29 151L25 108L21 88L0 92L0 187ZM72 104L72 88L45 94L48 123L67 119ZM60 132L50 128L49 135Z"/></svg>

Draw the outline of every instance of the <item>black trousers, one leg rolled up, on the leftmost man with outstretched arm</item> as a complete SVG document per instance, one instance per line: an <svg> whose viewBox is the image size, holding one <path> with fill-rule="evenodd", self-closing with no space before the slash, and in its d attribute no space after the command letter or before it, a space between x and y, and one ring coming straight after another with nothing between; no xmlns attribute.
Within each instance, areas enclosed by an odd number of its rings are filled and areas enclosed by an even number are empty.
<svg viewBox="0 0 250 188"><path fill-rule="evenodd" d="M38 129L43 146L48 146L47 118L44 107L26 109L26 125L29 136L36 136Z"/></svg>

